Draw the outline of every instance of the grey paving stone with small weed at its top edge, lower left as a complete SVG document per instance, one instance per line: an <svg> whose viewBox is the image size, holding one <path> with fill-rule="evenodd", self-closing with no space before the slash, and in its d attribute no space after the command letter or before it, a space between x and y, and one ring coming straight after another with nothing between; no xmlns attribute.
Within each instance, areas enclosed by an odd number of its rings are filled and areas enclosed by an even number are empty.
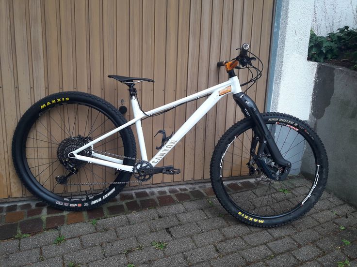
<svg viewBox="0 0 357 267"><path fill-rule="evenodd" d="M53 240L54 241L54 240ZM62 244L52 244L42 247L42 254L45 259L62 256L69 252L75 252L82 249L79 238L67 239Z"/></svg>

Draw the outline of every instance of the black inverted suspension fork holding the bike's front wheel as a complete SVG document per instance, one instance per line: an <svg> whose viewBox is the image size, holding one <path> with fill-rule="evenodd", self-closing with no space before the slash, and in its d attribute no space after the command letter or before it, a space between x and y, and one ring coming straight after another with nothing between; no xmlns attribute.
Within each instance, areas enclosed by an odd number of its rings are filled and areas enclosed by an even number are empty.
<svg viewBox="0 0 357 267"><path fill-rule="evenodd" d="M257 163L260 165L260 167L263 168L265 174L269 178L273 179L273 176L269 171L269 168L261 159L262 155L264 154L264 151L266 152L267 150L269 150L269 153L271 154L271 157L274 160L274 162L277 163L280 167L283 167L283 172L281 173L281 175L279 175L278 178L275 177L274 179L278 179L278 180L285 179L289 174L292 164L290 161L285 160L281 155L281 152L277 147L274 138L272 137L268 127L264 123L264 120L259 112L257 105L249 96L247 96L243 92L233 94L233 99L241 108L244 116L250 117L254 121L254 125L255 125L253 127L254 136L253 136L252 146L250 148L250 154L254 157L257 157ZM256 145L258 144L257 142L259 142L259 147L258 147L258 151L255 151Z"/></svg>

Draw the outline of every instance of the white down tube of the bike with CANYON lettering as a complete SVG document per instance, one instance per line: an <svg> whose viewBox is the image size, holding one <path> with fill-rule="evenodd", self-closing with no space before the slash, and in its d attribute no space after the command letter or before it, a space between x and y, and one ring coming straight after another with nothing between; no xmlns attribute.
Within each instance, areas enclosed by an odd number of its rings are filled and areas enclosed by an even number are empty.
<svg viewBox="0 0 357 267"><path fill-rule="evenodd" d="M150 163L155 166L159 163L163 157L181 140L181 138L187 134L188 131L214 106L223 96L219 96L216 92L213 92L211 96L186 120L179 130L171 137L170 140L156 153L156 155L150 160Z"/></svg>

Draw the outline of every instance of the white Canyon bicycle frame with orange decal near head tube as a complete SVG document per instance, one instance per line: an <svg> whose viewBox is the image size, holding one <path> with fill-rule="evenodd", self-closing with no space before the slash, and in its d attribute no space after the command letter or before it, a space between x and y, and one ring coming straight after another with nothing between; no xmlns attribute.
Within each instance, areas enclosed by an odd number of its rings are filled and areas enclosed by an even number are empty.
<svg viewBox="0 0 357 267"><path fill-rule="evenodd" d="M187 134L188 131L191 130L192 127L195 126L195 124L203 117L205 114L226 94L236 94L242 92L241 85L239 84L239 80L237 76L234 76L232 78L229 78L227 82L218 84L216 86L213 86L211 88L205 89L203 91L199 91L195 94L192 94L190 96L184 97L182 99L179 99L177 101L174 101L169 104L165 104L163 106L157 107L155 109L152 109L150 111L145 111L145 114L140 110L138 100L136 97L130 97L130 103L131 103L131 108L133 110L133 115L134 119L131 119L127 123L121 125L118 128L115 128L114 130L110 131L107 134L104 134L102 136L99 136L95 140L89 142L88 144L82 146L81 148L78 148L74 150L73 152L69 154L73 154L73 156L70 156L71 158L76 158L77 160L81 161L86 161L88 163L96 163L99 165L104 165L107 167L112 167L117 170L123 170L123 171L128 171L132 172L133 171L133 166L130 165L124 165L123 160L112 158L109 156L105 156L99 153L92 153L92 157L86 157L79 155L78 153L84 150L85 148L92 147L99 141L111 136L112 134L115 134L119 132L120 130L124 129L125 127L128 127L132 124L135 123L136 126L136 132L138 135L138 141L139 141L139 147L140 147L140 152L141 152L141 159L144 161L147 161L147 154L146 154L146 147L145 147L145 141L144 141L144 133L143 133L143 128L141 126L141 120L148 117L152 116L154 114L157 114L159 112L164 111L165 109L176 107L179 104L187 103L191 100L198 99L202 96L209 95L211 94L207 100L201 104L199 108L196 109L196 111L191 115L189 119L187 119L182 126L179 128L179 130L173 134L173 136L166 142L166 144L159 150L159 152L156 153L156 155L150 160L150 163L152 166L155 167L157 163L159 163L166 155L167 153L175 147L175 145L181 140L181 138ZM148 115L148 116L146 116ZM69 156L69 155L68 155Z"/></svg>

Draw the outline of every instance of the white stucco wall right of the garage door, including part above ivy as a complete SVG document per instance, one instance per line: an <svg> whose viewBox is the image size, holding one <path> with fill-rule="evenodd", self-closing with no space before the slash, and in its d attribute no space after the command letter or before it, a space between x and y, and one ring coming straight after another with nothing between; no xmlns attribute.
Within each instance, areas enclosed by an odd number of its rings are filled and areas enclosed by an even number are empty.
<svg viewBox="0 0 357 267"><path fill-rule="evenodd" d="M274 78L269 111L308 120L317 68L315 62L307 60L310 29L313 26L321 34L351 19L355 22L351 26L356 28L356 12L357 0L282 1L276 65L270 70Z"/></svg>

